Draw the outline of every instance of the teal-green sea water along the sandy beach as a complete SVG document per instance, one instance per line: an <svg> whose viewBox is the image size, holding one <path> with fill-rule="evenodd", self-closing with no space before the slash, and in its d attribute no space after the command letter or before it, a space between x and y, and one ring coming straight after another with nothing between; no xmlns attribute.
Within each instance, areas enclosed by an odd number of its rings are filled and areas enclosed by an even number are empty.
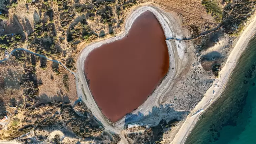
<svg viewBox="0 0 256 144"><path fill-rule="evenodd" d="M256 144L256 36L220 98L199 117L185 144Z"/></svg>

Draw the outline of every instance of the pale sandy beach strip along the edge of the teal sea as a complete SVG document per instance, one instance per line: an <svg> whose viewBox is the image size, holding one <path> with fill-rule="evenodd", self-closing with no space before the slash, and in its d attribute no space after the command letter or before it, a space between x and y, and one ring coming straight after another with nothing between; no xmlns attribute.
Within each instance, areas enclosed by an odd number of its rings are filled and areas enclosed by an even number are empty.
<svg viewBox="0 0 256 144"><path fill-rule="evenodd" d="M256 33L256 17L251 21L251 23L248 25L248 27L244 30L241 37L238 39L235 47L233 48L232 52L230 53L227 62L225 66L222 68L222 70L219 73L219 78L215 79L215 82L213 83L213 86L208 89L206 94L204 95L201 102L197 104L197 106L191 111L191 114L187 117L185 122L182 124L181 129L179 132L175 135L173 141L171 144L183 144L194 127L196 121L198 120L198 117L200 114L196 116L192 116L193 113L200 109L207 109L211 103L213 103L215 100L218 99L218 97L221 95L221 92L225 88L228 78L232 74L233 69L235 68L236 64L238 63L239 57L242 55L243 51L246 49L250 39L255 35ZM210 99L213 98L213 101L210 103Z"/></svg>

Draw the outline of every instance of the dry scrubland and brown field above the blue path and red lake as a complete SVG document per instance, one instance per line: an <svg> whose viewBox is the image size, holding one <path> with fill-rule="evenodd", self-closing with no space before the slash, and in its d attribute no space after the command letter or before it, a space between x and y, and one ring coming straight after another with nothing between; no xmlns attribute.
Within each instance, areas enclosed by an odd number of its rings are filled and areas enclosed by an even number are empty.
<svg viewBox="0 0 256 144"><path fill-rule="evenodd" d="M68 68L75 70L73 64L82 48L93 41L122 33L130 10L149 2L177 13L183 26L188 28L188 36L218 25L199 1L3 1L1 47L8 51L25 47L62 60ZM3 51L0 56L4 57Z"/></svg>

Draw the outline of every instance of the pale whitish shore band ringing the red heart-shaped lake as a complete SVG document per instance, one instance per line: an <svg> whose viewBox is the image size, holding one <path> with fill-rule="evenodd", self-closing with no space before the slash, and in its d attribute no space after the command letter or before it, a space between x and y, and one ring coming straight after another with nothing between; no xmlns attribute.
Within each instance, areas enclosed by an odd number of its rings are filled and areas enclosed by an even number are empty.
<svg viewBox="0 0 256 144"><path fill-rule="evenodd" d="M158 124L159 121L161 120L161 111L159 111L158 115L154 115L153 117L149 116L146 119L140 116L136 116L135 118L129 118L129 120L127 120L127 117L123 117L118 122L111 123L101 113L100 109L96 105L90 93L89 86L86 82L85 75L84 75L84 61L88 56L88 54L94 48L97 48L102 44L110 43L124 37L128 33L129 29L131 28L131 25L134 22L134 20L141 13L145 11L150 11L157 17L159 23L163 28L166 38L182 38L183 35L181 32L180 25L170 13L164 12L163 10L153 5L141 6L131 11L130 15L126 19L125 32L123 34L116 35L116 37L109 38L109 39L88 45L86 48L82 50L82 52L79 54L78 60L76 61L77 78L78 78L78 81L77 81L78 96L82 98L82 100L86 103L87 107L92 111L96 119L99 120L104 125L104 128L106 130L113 131L118 134L121 134L121 130L123 130L123 128L125 127L125 124L133 123L134 121L141 122L141 123ZM176 72L179 70L178 66L180 64L178 63L178 61L180 61L180 58L178 56L177 46L174 41L173 42L166 41L166 44L169 52L169 62L170 62L169 71L165 76L165 78L162 80L161 84L159 84L159 86L155 89L153 94L151 94L151 96L141 106L139 106L138 109L132 112L132 114L134 115L138 115L138 112L142 113L143 115L148 115L148 113L152 111L152 108L154 106L159 107L160 105L159 100L161 100L162 96L164 96L164 94L166 94L168 89L171 87L172 80L175 77ZM186 47L185 43L181 43L181 44L183 44L182 47ZM83 90L82 90L82 87L83 87ZM84 97L84 95L86 95L86 97ZM173 112L169 115L165 114L165 117L172 118L172 117L175 117L175 115L178 115L178 113ZM121 136L121 139L124 140L122 136Z"/></svg>

